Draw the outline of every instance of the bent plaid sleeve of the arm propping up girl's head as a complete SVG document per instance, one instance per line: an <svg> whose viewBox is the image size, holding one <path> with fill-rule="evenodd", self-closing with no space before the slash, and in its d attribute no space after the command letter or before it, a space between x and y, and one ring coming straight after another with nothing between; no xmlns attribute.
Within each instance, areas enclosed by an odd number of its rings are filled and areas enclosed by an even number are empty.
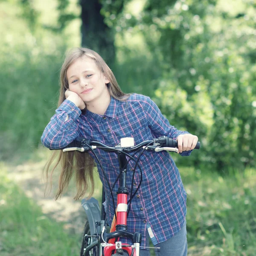
<svg viewBox="0 0 256 256"><path fill-rule="evenodd" d="M80 115L81 110L73 102L64 100L44 129L41 137L43 145L51 149L60 149L79 137Z"/></svg>

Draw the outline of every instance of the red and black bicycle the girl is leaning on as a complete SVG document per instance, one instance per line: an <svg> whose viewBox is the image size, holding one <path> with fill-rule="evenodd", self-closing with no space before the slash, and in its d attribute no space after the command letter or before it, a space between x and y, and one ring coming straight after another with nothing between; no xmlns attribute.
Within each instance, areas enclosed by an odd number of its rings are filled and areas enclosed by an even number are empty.
<svg viewBox="0 0 256 256"><path fill-rule="evenodd" d="M133 138L123 138L121 142L116 145L115 147L110 147L98 141L88 140L83 137L79 137L70 143L66 148L62 148L65 151L73 151L78 150L81 152L94 150L96 148L108 151L108 152L115 152L118 154L119 160L119 176L116 178L115 183L119 180L119 188L117 191L117 207L114 219L112 221L111 228L109 232L107 232L107 224L106 224L106 211L108 210L108 205L110 202L110 198L112 198L113 203L113 184L112 188L110 183L108 182L108 186L111 189L111 195L108 197L107 206L104 207L102 205L102 209L100 211L99 202L95 198L90 198L89 200L83 199L81 201L82 207L84 208L87 214L87 222L84 227L82 245L81 245L81 252L80 256L140 256L140 243L141 243L141 234L138 232L129 233L127 232L127 212L128 212L128 203L129 209L131 206L131 200L135 196L137 190L140 187L142 181L142 175L140 178L140 184L137 187L136 191L132 193L130 201L127 201L128 196L128 189L126 187L126 166L130 160L136 161L134 166L135 169L138 166L138 162L140 156L143 154L145 150L154 150L156 152L160 151L178 151L177 149L177 141L172 140L166 136L162 136L159 138L155 138L153 140L146 140L138 145L134 145ZM195 149L200 148L200 142L197 143ZM134 159L134 155L137 151L143 149L140 153L139 157ZM133 156L129 153L135 152ZM95 153L93 153L95 154ZM95 154L96 156L96 154ZM129 160L126 159L126 156L129 157ZM97 158L97 156L96 156ZM98 162L99 159L97 158ZM99 162L102 171L104 173L104 169ZM140 169L140 166L138 166ZM105 193L104 189L102 189L102 202L105 201ZM119 241L119 238L125 237L132 241L132 244L122 243Z"/></svg>

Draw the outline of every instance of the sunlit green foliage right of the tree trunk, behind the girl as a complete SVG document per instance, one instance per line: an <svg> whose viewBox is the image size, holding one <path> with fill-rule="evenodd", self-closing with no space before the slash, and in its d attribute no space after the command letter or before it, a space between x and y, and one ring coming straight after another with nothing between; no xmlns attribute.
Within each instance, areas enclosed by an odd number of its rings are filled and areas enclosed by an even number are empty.
<svg viewBox="0 0 256 256"><path fill-rule="evenodd" d="M122 38L143 34L160 67L154 100L172 125L198 135L192 158L202 167L256 164L255 12L251 0L150 0L116 20Z"/></svg>

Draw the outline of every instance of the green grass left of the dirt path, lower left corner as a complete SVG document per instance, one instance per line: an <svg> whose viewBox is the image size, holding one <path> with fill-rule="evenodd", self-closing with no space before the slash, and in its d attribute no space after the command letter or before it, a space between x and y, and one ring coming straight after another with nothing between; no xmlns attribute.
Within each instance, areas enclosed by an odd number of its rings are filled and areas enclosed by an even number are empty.
<svg viewBox="0 0 256 256"><path fill-rule="evenodd" d="M79 255L81 237L68 234L64 223L48 218L27 198L0 166L0 255Z"/></svg>

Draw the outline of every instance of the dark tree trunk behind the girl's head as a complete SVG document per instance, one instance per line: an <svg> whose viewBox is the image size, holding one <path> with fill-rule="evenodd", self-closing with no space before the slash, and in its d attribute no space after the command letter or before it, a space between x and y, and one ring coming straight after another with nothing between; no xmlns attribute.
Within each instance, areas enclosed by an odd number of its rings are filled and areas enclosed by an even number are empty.
<svg viewBox="0 0 256 256"><path fill-rule="evenodd" d="M88 47L102 56L111 67L115 58L114 35L100 14L99 0L80 0L82 47Z"/></svg>

